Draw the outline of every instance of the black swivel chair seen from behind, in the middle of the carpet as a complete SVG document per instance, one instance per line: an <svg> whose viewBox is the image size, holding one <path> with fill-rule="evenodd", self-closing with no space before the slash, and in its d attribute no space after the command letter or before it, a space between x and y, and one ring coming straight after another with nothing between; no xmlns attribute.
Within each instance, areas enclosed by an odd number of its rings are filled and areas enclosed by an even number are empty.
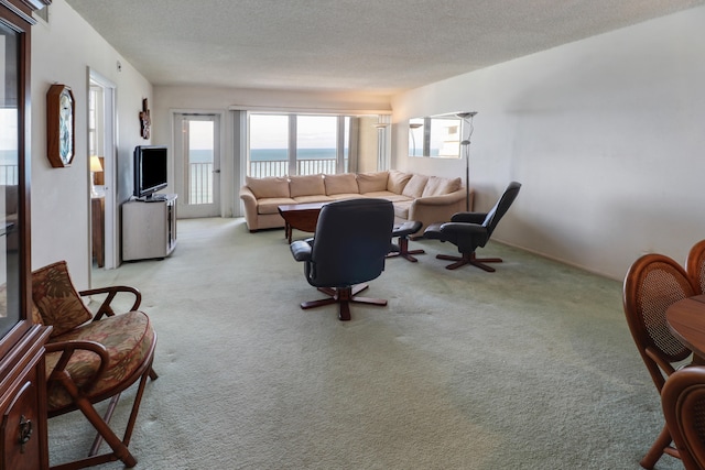
<svg viewBox="0 0 705 470"><path fill-rule="evenodd" d="M350 302L387 305L387 300L358 297L367 281L379 277L391 250L394 209L384 199L347 199L321 209L314 237L291 243L303 261L306 281L329 297L304 302L301 308L339 304L338 318L350 319Z"/></svg>

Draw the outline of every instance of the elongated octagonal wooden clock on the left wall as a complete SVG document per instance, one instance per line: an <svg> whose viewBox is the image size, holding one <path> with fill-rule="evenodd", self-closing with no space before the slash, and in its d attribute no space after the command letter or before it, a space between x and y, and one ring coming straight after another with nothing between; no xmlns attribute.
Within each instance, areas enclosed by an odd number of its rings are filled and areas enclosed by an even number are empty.
<svg viewBox="0 0 705 470"><path fill-rule="evenodd" d="M74 160L74 94L66 85L54 84L46 92L46 156L55 168Z"/></svg>

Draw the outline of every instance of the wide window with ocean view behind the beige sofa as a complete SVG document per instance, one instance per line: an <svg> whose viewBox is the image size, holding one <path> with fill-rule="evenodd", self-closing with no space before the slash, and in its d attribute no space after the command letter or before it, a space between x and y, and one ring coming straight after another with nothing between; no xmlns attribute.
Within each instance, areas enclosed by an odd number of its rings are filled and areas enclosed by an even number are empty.
<svg viewBox="0 0 705 470"><path fill-rule="evenodd" d="M351 117L249 114L248 175L254 177L347 173ZM354 162L352 162L354 163Z"/></svg>

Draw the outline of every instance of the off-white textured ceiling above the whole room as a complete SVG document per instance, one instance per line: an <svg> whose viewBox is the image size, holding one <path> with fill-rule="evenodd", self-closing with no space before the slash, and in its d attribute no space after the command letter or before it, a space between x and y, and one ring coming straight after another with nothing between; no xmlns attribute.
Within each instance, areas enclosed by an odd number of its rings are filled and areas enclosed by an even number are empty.
<svg viewBox="0 0 705 470"><path fill-rule="evenodd" d="M66 0L154 85L389 95L705 0Z"/></svg>

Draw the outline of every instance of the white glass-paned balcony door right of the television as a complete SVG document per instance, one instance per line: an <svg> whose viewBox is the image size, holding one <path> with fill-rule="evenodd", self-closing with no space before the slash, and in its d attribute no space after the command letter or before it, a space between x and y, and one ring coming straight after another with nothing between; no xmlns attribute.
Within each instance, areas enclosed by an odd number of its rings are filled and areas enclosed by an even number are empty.
<svg viewBox="0 0 705 470"><path fill-rule="evenodd" d="M174 187L178 217L220 216L220 116L174 116Z"/></svg>

